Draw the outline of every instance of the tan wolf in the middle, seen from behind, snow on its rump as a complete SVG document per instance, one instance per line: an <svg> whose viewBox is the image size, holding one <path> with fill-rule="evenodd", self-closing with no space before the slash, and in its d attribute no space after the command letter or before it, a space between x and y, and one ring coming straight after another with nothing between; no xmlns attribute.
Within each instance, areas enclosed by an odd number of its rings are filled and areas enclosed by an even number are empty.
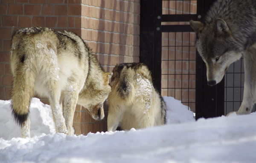
<svg viewBox="0 0 256 163"><path fill-rule="evenodd" d="M166 104L152 84L151 72L142 63L116 65L108 96L108 131L165 124Z"/></svg>

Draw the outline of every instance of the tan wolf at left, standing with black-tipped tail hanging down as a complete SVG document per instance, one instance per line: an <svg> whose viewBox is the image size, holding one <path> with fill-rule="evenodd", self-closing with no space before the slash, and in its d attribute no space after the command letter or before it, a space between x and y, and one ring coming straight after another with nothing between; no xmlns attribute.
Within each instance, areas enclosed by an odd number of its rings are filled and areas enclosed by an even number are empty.
<svg viewBox="0 0 256 163"><path fill-rule="evenodd" d="M76 104L96 120L104 119L109 79L83 40L72 32L32 27L12 36L12 113L30 136L29 105L34 93L49 98L56 132L71 135ZM64 117L62 114L64 101Z"/></svg>

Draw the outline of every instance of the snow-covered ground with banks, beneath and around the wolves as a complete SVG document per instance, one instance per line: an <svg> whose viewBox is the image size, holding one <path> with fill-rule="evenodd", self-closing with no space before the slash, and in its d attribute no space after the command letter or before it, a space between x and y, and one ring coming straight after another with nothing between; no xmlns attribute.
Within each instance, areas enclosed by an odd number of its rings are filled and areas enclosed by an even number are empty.
<svg viewBox="0 0 256 163"><path fill-rule="evenodd" d="M164 97L167 124L147 129L67 136L54 132L48 105L30 106L31 136L19 138L10 101L0 101L0 162L255 163L256 113L201 118Z"/></svg>

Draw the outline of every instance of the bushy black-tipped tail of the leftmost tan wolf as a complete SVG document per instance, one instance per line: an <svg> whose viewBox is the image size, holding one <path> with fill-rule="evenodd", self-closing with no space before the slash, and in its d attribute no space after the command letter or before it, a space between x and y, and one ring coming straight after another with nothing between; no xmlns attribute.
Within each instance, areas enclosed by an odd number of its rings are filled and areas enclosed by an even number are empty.
<svg viewBox="0 0 256 163"><path fill-rule="evenodd" d="M22 50L21 50L22 52ZM24 52L24 50L23 50ZM34 95L35 88L35 61L29 59L29 51L26 54L13 53L11 57L11 66L13 73L12 83L12 115L20 126L29 116L30 100Z"/></svg>

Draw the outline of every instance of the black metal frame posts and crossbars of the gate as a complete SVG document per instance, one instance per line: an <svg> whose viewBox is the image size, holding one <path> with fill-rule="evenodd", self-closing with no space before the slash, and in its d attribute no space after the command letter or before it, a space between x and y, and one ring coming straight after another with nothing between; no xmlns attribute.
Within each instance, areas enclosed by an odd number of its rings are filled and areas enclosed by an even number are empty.
<svg viewBox="0 0 256 163"><path fill-rule="evenodd" d="M197 14L187 15L162 15L162 1L140 1L140 62L152 71L154 84L160 93L162 32L194 32L190 25L161 25L161 22L200 21L214 0L197 0ZM214 87L207 85L206 66L198 52L195 99L196 119L224 115L224 79Z"/></svg>

